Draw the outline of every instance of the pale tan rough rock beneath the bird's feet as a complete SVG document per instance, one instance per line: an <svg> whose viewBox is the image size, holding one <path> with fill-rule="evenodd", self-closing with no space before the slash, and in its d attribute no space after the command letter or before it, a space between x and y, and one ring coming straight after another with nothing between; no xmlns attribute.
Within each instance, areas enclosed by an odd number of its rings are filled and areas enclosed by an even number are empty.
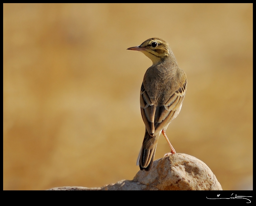
<svg viewBox="0 0 256 206"><path fill-rule="evenodd" d="M57 187L49 190L222 190L215 175L201 160L188 154L157 159L150 171L139 171L133 180L99 188Z"/></svg>

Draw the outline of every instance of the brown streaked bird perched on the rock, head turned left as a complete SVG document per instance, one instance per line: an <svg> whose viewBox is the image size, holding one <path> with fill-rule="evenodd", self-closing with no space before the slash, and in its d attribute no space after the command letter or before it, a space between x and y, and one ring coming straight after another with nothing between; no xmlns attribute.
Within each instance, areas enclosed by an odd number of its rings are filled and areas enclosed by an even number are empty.
<svg viewBox="0 0 256 206"><path fill-rule="evenodd" d="M127 50L142 52L152 61L140 88L140 111L145 124L145 136L137 159L140 170L149 171L161 133L171 148L170 153L176 154L165 131L180 113L187 89L187 76L179 68L164 39L150 38L140 46Z"/></svg>

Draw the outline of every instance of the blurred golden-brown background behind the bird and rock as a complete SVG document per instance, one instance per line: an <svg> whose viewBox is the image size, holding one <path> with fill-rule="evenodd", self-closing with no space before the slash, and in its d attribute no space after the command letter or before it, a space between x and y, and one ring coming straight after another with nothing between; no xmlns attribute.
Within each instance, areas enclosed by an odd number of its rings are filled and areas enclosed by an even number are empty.
<svg viewBox="0 0 256 206"><path fill-rule="evenodd" d="M167 135L224 190L253 189L253 4L3 4L3 190L133 179L152 62L165 39L187 74ZM161 135L155 159L170 148Z"/></svg>

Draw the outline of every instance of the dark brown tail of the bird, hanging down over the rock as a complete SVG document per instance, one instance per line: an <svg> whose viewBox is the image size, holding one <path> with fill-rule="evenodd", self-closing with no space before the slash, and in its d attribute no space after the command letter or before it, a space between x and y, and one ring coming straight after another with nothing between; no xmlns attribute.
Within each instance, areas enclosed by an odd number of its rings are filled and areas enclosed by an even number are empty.
<svg viewBox="0 0 256 206"><path fill-rule="evenodd" d="M160 134L151 137L146 130L140 154L137 159L137 165L140 165L140 170L145 169L149 171L151 169L159 136Z"/></svg>

